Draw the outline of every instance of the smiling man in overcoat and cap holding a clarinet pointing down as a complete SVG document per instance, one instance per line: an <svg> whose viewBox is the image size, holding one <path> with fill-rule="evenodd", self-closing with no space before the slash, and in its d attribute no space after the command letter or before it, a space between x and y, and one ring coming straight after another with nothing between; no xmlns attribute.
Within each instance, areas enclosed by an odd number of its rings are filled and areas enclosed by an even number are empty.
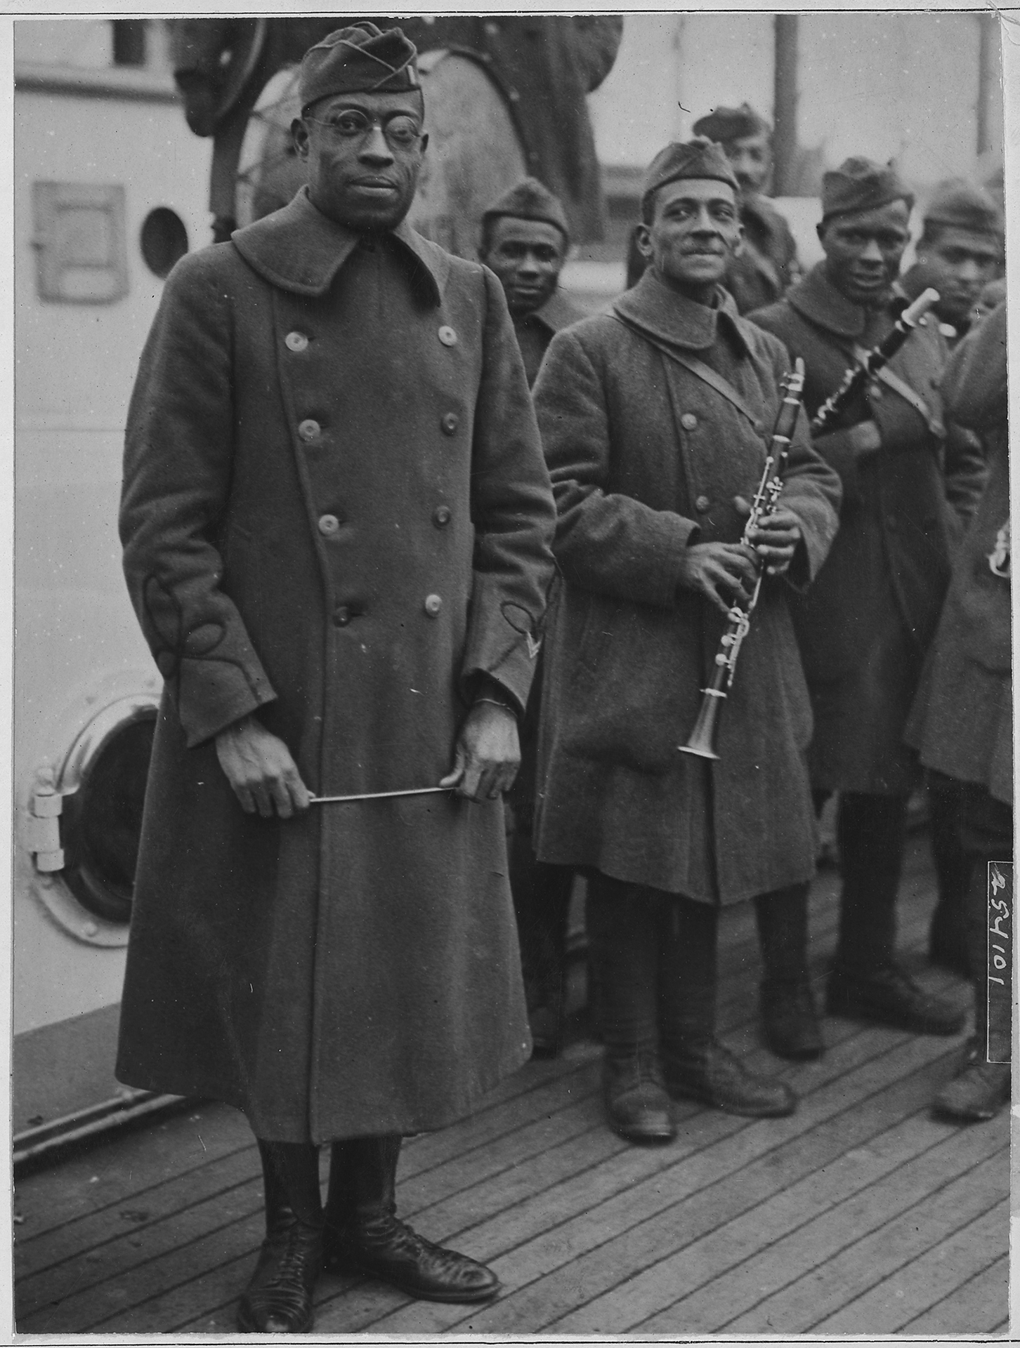
<svg viewBox="0 0 1020 1348"><path fill-rule="evenodd" d="M719 286L739 245L718 146L668 146L642 197L650 266L611 314L553 337L536 408L557 501L563 592L546 651L538 857L590 868L588 941L611 1127L673 1134L667 1092L788 1113L789 1088L715 1041L722 905L805 922L815 821L811 710L787 609L837 527L839 483L799 415L780 507L741 542L789 363ZM727 615L764 578L718 763L681 754ZM810 999L805 926L766 984Z"/></svg>

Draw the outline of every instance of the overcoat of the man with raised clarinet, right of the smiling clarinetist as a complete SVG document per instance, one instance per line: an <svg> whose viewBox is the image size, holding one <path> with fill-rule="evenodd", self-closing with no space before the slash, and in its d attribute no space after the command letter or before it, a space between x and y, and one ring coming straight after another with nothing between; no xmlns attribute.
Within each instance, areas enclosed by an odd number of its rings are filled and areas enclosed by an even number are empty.
<svg viewBox="0 0 1020 1348"><path fill-rule="evenodd" d="M814 415L897 311L890 302L869 321L819 263L784 299L749 317L803 357L804 406ZM946 596L950 550L984 476L973 437L946 429L939 380L947 355L935 324L917 328L888 372L924 412L874 381L838 429L815 438L843 484L832 551L818 582L791 603L815 713L811 779L820 790L901 795L916 780L903 732ZM881 449L858 458L849 430L869 418Z"/></svg>

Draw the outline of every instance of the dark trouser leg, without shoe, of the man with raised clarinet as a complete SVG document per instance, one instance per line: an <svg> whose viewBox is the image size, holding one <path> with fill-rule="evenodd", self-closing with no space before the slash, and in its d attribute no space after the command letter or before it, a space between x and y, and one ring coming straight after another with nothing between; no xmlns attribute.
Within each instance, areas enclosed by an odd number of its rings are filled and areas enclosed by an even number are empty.
<svg viewBox="0 0 1020 1348"><path fill-rule="evenodd" d="M828 793L815 793L815 807ZM893 962L896 895L907 830L905 795L843 791L837 814L837 842L843 888L835 962L866 976Z"/></svg>

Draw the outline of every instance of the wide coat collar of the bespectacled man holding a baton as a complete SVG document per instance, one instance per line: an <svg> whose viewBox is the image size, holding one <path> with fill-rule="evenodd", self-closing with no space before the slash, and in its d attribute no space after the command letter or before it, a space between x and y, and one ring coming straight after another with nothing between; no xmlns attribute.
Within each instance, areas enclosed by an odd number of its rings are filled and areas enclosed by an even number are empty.
<svg viewBox="0 0 1020 1348"><path fill-rule="evenodd" d="M432 303L438 305L449 275L449 257L416 233L406 220L391 237L403 244ZM312 205L308 187L281 210L231 235L242 257L271 286L316 297L329 290L358 240L352 229L337 225Z"/></svg>

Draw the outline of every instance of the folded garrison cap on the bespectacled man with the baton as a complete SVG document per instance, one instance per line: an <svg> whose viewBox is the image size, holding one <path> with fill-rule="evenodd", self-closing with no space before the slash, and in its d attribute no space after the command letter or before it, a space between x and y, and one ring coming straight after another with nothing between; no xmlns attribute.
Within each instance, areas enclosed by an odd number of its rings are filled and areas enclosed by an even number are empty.
<svg viewBox="0 0 1020 1348"><path fill-rule="evenodd" d="M363 20L337 28L301 58L298 93L305 112L337 93L406 93L420 89L418 49L401 28L385 32Z"/></svg>

